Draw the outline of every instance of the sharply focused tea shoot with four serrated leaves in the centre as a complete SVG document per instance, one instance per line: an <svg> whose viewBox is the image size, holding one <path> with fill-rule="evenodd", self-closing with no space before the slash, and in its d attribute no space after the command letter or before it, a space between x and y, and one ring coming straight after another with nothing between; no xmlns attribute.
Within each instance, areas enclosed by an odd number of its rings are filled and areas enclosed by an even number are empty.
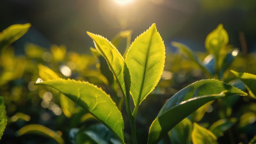
<svg viewBox="0 0 256 144"><path fill-rule="evenodd" d="M153 24L131 44L125 60L115 46L106 38L88 33L97 51L105 58L113 72L120 90L125 97L125 107L131 124L133 143L136 140L136 113L143 100L156 87L164 67L164 44ZM100 122L113 131L121 143L124 142L124 120L122 114L108 94L93 84L56 79L40 81L59 90L88 110ZM152 122L148 133L148 143L158 143L176 124L207 102L230 95L246 95L241 90L220 81L209 79L193 83L173 95ZM131 98L134 108L131 109ZM174 117L173 117L174 116Z"/></svg>

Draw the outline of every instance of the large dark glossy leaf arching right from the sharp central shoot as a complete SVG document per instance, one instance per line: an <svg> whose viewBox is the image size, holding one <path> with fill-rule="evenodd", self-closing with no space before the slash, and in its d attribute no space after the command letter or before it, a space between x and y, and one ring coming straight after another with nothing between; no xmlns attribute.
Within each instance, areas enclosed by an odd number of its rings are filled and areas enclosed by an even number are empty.
<svg viewBox="0 0 256 144"><path fill-rule="evenodd" d="M206 79L190 84L173 95L159 111L157 118L150 126L148 144L157 143L163 134L166 134L186 116L207 102L230 95L247 94L215 79Z"/></svg>

